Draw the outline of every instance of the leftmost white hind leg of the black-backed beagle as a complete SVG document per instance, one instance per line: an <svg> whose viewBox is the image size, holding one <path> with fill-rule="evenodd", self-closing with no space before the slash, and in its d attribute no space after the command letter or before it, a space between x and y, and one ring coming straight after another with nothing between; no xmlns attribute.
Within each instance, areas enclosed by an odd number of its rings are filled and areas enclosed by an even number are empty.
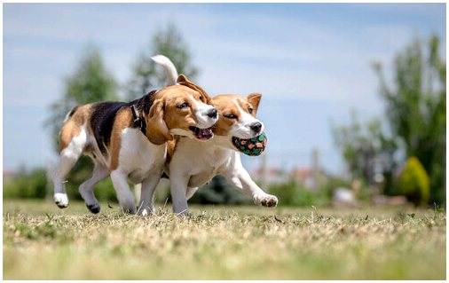
<svg viewBox="0 0 449 283"><path fill-rule="evenodd" d="M67 208L68 206L65 178L70 169L74 167L75 162L78 160L81 153L83 153L87 140L85 127L81 127L81 129L79 129L79 133L74 138L70 138L70 133L67 134L69 138L65 136L67 133L67 128L65 129L65 127L61 130L61 144L66 146L64 146L60 151L59 165L53 173L53 199L59 208Z"/></svg>

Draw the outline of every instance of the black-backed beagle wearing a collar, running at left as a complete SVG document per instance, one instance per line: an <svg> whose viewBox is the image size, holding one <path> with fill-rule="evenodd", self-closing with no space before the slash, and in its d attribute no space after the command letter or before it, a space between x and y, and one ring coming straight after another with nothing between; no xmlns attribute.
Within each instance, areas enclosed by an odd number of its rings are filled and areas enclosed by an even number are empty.
<svg viewBox="0 0 449 283"><path fill-rule="evenodd" d="M129 103L91 103L75 106L67 114L59 133L59 166L53 174L53 198L59 208L68 206L64 179L84 154L95 166L79 192L92 213L100 209L93 186L108 176L123 211L137 212L128 180L142 184L138 213L146 215L153 210L147 200L161 178L167 141L173 135L212 138L211 127L218 119L217 110L208 105L210 97L201 87L185 75L179 75L176 83Z"/></svg>

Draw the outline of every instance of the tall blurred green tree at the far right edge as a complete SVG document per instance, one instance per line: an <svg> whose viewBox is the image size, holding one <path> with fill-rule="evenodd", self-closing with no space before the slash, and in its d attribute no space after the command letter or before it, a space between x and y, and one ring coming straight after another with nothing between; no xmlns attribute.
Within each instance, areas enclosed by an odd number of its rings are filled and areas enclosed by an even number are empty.
<svg viewBox="0 0 449 283"><path fill-rule="evenodd" d="M380 92L387 106L390 129L429 173L430 201L445 202L445 60L439 55L439 39L426 45L415 40L395 59L389 85L382 65L374 64Z"/></svg>

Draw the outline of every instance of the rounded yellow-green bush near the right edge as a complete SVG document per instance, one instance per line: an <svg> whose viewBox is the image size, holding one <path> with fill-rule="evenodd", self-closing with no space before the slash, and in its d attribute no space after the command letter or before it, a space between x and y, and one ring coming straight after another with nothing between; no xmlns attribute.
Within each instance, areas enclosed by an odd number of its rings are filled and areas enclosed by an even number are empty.
<svg viewBox="0 0 449 283"><path fill-rule="evenodd" d="M416 206L429 201L430 180L426 169L416 157L406 161L406 167L398 179L398 189Z"/></svg>

